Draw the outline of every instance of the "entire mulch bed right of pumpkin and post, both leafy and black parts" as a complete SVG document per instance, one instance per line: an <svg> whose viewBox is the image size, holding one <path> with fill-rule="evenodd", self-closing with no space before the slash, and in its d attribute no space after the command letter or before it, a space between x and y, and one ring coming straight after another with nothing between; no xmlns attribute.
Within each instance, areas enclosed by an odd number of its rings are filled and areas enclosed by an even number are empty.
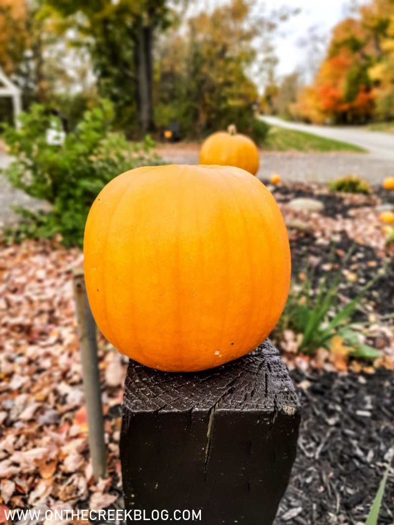
<svg viewBox="0 0 394 525"><path fill-rule="evenodd" d="M294 278L308 267L316 289L325 275L346 268L339 292L351 299L387 265L353 320L372 323L375 316L394 312L394 262L375 211L380 204L394 204L394 192L379 186L371 195L341 195L323 185L284 183L275 187L274 195L285 218L295 216L312 225L310 232L290 235ZM289 212L287 204L298 197L322 202L322 214ZM378 335L368 343L382 348L387 344L383 339ZM291 375L298 385L302 423L291 481L275 525L364 525L394 447L394 374L372 367L370 374L321 374L300 358L296 366ZM391 471L379 524L393 523Z"/></svg>

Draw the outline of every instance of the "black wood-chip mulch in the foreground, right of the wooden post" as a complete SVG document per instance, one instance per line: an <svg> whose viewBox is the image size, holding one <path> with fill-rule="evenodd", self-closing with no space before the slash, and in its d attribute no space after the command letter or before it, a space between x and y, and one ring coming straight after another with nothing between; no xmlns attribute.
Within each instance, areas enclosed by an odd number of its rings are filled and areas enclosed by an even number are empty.
<svg viewBox="0 0 394 525"><path fill-rule="evenodd" d="M364 525L394 448L394 374L291 375L302 422L275 525ZM379 514L379 525L392 523L393 470Z"/></svg>

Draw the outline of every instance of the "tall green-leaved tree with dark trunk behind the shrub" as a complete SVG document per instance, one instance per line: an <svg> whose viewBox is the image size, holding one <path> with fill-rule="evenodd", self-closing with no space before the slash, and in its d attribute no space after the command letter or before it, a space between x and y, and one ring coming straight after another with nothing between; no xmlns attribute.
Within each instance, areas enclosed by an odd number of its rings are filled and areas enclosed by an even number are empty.
<svg viewBox="0 0 394 525"><path fill-rule="evenodd" d="M46 0L46 15L58 13L59 29L74 28L75 44L89 49L99 93L115 104L118 123L130 127L137 113L143 132L153 127L153 37L170 23L167 4L168 0Z"/></svg>

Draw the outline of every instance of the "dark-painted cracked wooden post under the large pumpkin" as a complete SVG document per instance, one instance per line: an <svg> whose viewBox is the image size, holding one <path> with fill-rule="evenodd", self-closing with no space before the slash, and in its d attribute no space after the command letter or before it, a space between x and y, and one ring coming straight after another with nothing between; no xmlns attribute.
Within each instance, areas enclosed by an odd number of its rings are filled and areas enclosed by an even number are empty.
<svg viewBox="0 0 394 525"><path fill-rule="evenodd" d="M130 361L120 438L128 522L133 509L152 521L165 510L176 523L190 523L184 509L201 509L204 525L271 525L299 419L292 381L269 340L204 372L165 373Z"/></svg>

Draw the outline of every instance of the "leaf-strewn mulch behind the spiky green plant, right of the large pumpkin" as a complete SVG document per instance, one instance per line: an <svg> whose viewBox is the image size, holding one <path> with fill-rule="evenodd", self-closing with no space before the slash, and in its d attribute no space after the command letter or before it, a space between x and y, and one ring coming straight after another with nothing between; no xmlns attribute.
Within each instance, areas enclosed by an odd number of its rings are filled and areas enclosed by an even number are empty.
<svg viewBox="0 0 394 525"><path fill-rule="evenodd" d="M379 220L376 209L390 204L394 192L376 187L370 195L331 193L323 184L288 182L270 186L270 189L288 225L292 276L298 286L308 279L312 283L312 294L317 295L323 279L327 279L329 285L339 274L340 308L375 279L350 321L358 323L359 330L364 331L367 344L382 350L385 355L375 365L383 364L394 370L394 336L389 318L394 312L394 246L386 242L385 225ZM294 211L290 203L299 197L322 202L322 212ZM360 323L364 323L364 328ZM303 362L300 356L288 354L287 341L283 342L283 338L278 339L276 335L275 342L285 351L283 355L289 367L314 367L316 360L307 358ZM323 365L323 369L332 370L330 366Z"/></svg>

